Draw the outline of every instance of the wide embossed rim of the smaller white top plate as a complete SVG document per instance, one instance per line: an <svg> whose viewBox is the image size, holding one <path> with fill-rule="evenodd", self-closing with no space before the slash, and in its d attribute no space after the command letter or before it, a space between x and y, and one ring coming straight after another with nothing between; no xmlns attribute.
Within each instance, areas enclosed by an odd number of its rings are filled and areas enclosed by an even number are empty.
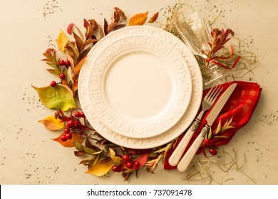
<svg viewBox="0 0 278 199"><path fill-rule="evenodd" d="M173 75L175 76L174 89L177 90L177 93L175 99L173 99L172 106L168 108L167 112L152 122L136 124L121 119L110 111L105 104L105 99L103 99L102 81L103 74L105 73L110 60L113 60L113 58L119 53L125 53L127 50L128 52L130 52L130 50L136 51L139 48L152 50L153 52L168 58L170 62L168 68L175 73ZM190 71L182 56L175 48L165 43L165 41L153 38L153 36L130 35L125 38L120 38L117 41L106 45L91 65L88 92L93 111L106 127L122 136L128 136L135 139L145 139L163 134L177 124L188 107L192 94Z"/></svg>

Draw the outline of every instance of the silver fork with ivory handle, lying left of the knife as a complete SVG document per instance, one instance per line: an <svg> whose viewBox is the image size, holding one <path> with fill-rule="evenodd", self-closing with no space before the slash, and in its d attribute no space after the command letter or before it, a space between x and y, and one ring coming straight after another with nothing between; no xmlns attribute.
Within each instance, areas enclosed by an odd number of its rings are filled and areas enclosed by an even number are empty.
<svg viewBox="0 0 278 199"><path fill-rule="evenodd" d="M176 166L177 163L180 161L180 158L183 152L185 151L187 144L189 143L192 135L200 125L203 114L212 107L212 105L215 103L215 100L220 95L222 89L223 87L221 87L220 85L212 87L210 91L207 92L207 95L205 95L204 99L202 99L202 111L192 122L190 128L187 129L185 136L182 137L182 140L177 145L177 148L173 151L173 154L171 154L168 160L170 166Z"/></svg>

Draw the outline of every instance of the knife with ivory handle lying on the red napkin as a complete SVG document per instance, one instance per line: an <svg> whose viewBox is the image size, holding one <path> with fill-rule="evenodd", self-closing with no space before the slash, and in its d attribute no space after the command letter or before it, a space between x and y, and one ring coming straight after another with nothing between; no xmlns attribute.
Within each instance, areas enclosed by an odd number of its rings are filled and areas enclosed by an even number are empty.
<svg viewBox="0 0 278 199"><path fill-rule="evenodd" d="M210 130L211 125L213 124L213 122L215 122L215 119L217 118L218 114L226 104L229 97L232 95L232 92L235 90L235 87L237 87L237 83L230 85L230 87L228 87L227 90L225 90L225 92L220 96L215 106L212 107L210 114L208 114L206 118L207 124L205 125L205 127L202 128L200 134L197 136L195 141L192 143L190 148L185 152L185 155L182 156L180 162L177 164L178 171L182 172L187 169L190 162L192 161L192 158L195 156L197 150L201 146L202 141L205 139L205 135Z"/></svg>

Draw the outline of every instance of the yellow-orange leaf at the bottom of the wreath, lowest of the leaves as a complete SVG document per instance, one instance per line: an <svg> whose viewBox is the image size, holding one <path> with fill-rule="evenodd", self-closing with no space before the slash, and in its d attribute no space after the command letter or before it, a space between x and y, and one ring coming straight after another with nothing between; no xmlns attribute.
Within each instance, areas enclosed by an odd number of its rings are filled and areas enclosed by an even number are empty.
<svg viewBox="0 0 278 199"><path fill-rule="evenodd" d="M91 173L95 176L103 176L105 173L108 173L112 166L114 166L113 160L109 158L100 158L86 173Z"/></svg>

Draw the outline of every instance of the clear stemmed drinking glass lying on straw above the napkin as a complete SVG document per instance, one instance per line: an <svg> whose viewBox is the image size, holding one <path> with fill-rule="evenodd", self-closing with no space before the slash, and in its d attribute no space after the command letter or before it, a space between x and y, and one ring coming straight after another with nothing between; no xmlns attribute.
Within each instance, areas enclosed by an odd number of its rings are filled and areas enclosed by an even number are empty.
<svg viewBox="0 0 278 199"><path fill-rule="evenodd" d="M192 53L206 59L207 55L205 54L210 52L210 45L207 42L210 42L212 37L210 25L202 6L190 7L177 16L173 16L173 24ZM209 63L207 68L204 67L206 66L201 66L205 85L210 85L230 75L230 72L223 73L217 65L212 63Z"/></svg>

